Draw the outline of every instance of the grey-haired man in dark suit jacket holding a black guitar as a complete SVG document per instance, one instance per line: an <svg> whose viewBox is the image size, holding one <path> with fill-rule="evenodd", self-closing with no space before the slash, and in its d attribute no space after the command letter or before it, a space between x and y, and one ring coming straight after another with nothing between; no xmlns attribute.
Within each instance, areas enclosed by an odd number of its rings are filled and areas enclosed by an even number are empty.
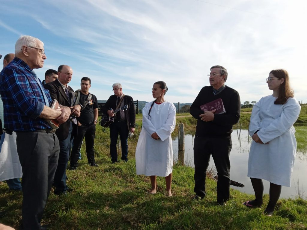
<svg viewBox="0 0 307 230"><path fill-rule="evenodd" d="M120 83L113 84L114 95L110 96L106 104L103 106L102 111L110 117L115 117L114 122L110 125L110 153L112 163L117 162L116 143L118 135L120 136L120 143L122 146L122 160L128 161L128 132L134 132L135 128L135 109L133 98L124 95L122 92L122 85ZM123 98L123 99L122 99ZM119 102L121 101L119 105ZM119 106L118 106L119 105ZM116 107L128 105L128 110L120 110L115 114L113 111Z"/></svg>

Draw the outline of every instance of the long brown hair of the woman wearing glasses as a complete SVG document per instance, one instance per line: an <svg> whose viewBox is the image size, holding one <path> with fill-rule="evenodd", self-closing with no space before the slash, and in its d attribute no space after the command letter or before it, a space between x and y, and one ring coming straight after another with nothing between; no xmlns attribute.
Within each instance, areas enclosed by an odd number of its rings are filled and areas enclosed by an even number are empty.
<svg viewBox="0 0 307 230"><path fill-rule="evenodd" d="M278 98L274 102L275 105L283 105L287 102L288 98L293 98L293 90L290 88L289 75L286 70L272 70L270 74L278 79L284 79L284 82L279 87Z"/></svg>

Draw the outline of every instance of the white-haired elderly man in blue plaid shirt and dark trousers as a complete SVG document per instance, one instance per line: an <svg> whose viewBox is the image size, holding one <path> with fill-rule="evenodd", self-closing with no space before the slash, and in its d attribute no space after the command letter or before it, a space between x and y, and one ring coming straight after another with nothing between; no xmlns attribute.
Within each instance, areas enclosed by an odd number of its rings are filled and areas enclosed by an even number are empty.
<svg viewBox="0 0 307 230"><path fill-rule="evenodd" d="M59 157L59 140L45 119L65 122L70 108L51 109L51 97L33 69L46 59L44 44L21 36L15 44L15 58L0 73L0 94L4 105L4 127L17 133L17 152L22 166L21 229L41 230Z"/></svg>

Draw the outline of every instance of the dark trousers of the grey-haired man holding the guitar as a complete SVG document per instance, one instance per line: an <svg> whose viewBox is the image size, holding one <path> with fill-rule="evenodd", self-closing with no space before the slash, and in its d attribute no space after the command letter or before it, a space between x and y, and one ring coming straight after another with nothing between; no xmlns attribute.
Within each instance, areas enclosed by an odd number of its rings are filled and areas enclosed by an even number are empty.
<svg viewBox="0 0 307 230"><path fill-rule="evenodd" d="M116 143L118 134L120 137L120 144L122 146L122 160L128 160L128 132L129 130L126 121L114 121L114 123L110 125L110 154L113 162L117 161Z"/></svg>

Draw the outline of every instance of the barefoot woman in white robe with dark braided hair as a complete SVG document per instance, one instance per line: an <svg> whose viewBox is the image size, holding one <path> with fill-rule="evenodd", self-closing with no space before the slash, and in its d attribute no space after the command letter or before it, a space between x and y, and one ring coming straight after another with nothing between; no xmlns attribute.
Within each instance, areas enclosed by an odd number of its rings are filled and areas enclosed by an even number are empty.
<svg viewBox="0 0 307 230"><path fill-rule="evenodd" d="M157 176L165 177L166 196L172 196L173 146L176 108L164 99L165 82L153 84L153 102L143 108L143 124L135 151L136 174L150 176L150 194L157 192Z"/></svg>

